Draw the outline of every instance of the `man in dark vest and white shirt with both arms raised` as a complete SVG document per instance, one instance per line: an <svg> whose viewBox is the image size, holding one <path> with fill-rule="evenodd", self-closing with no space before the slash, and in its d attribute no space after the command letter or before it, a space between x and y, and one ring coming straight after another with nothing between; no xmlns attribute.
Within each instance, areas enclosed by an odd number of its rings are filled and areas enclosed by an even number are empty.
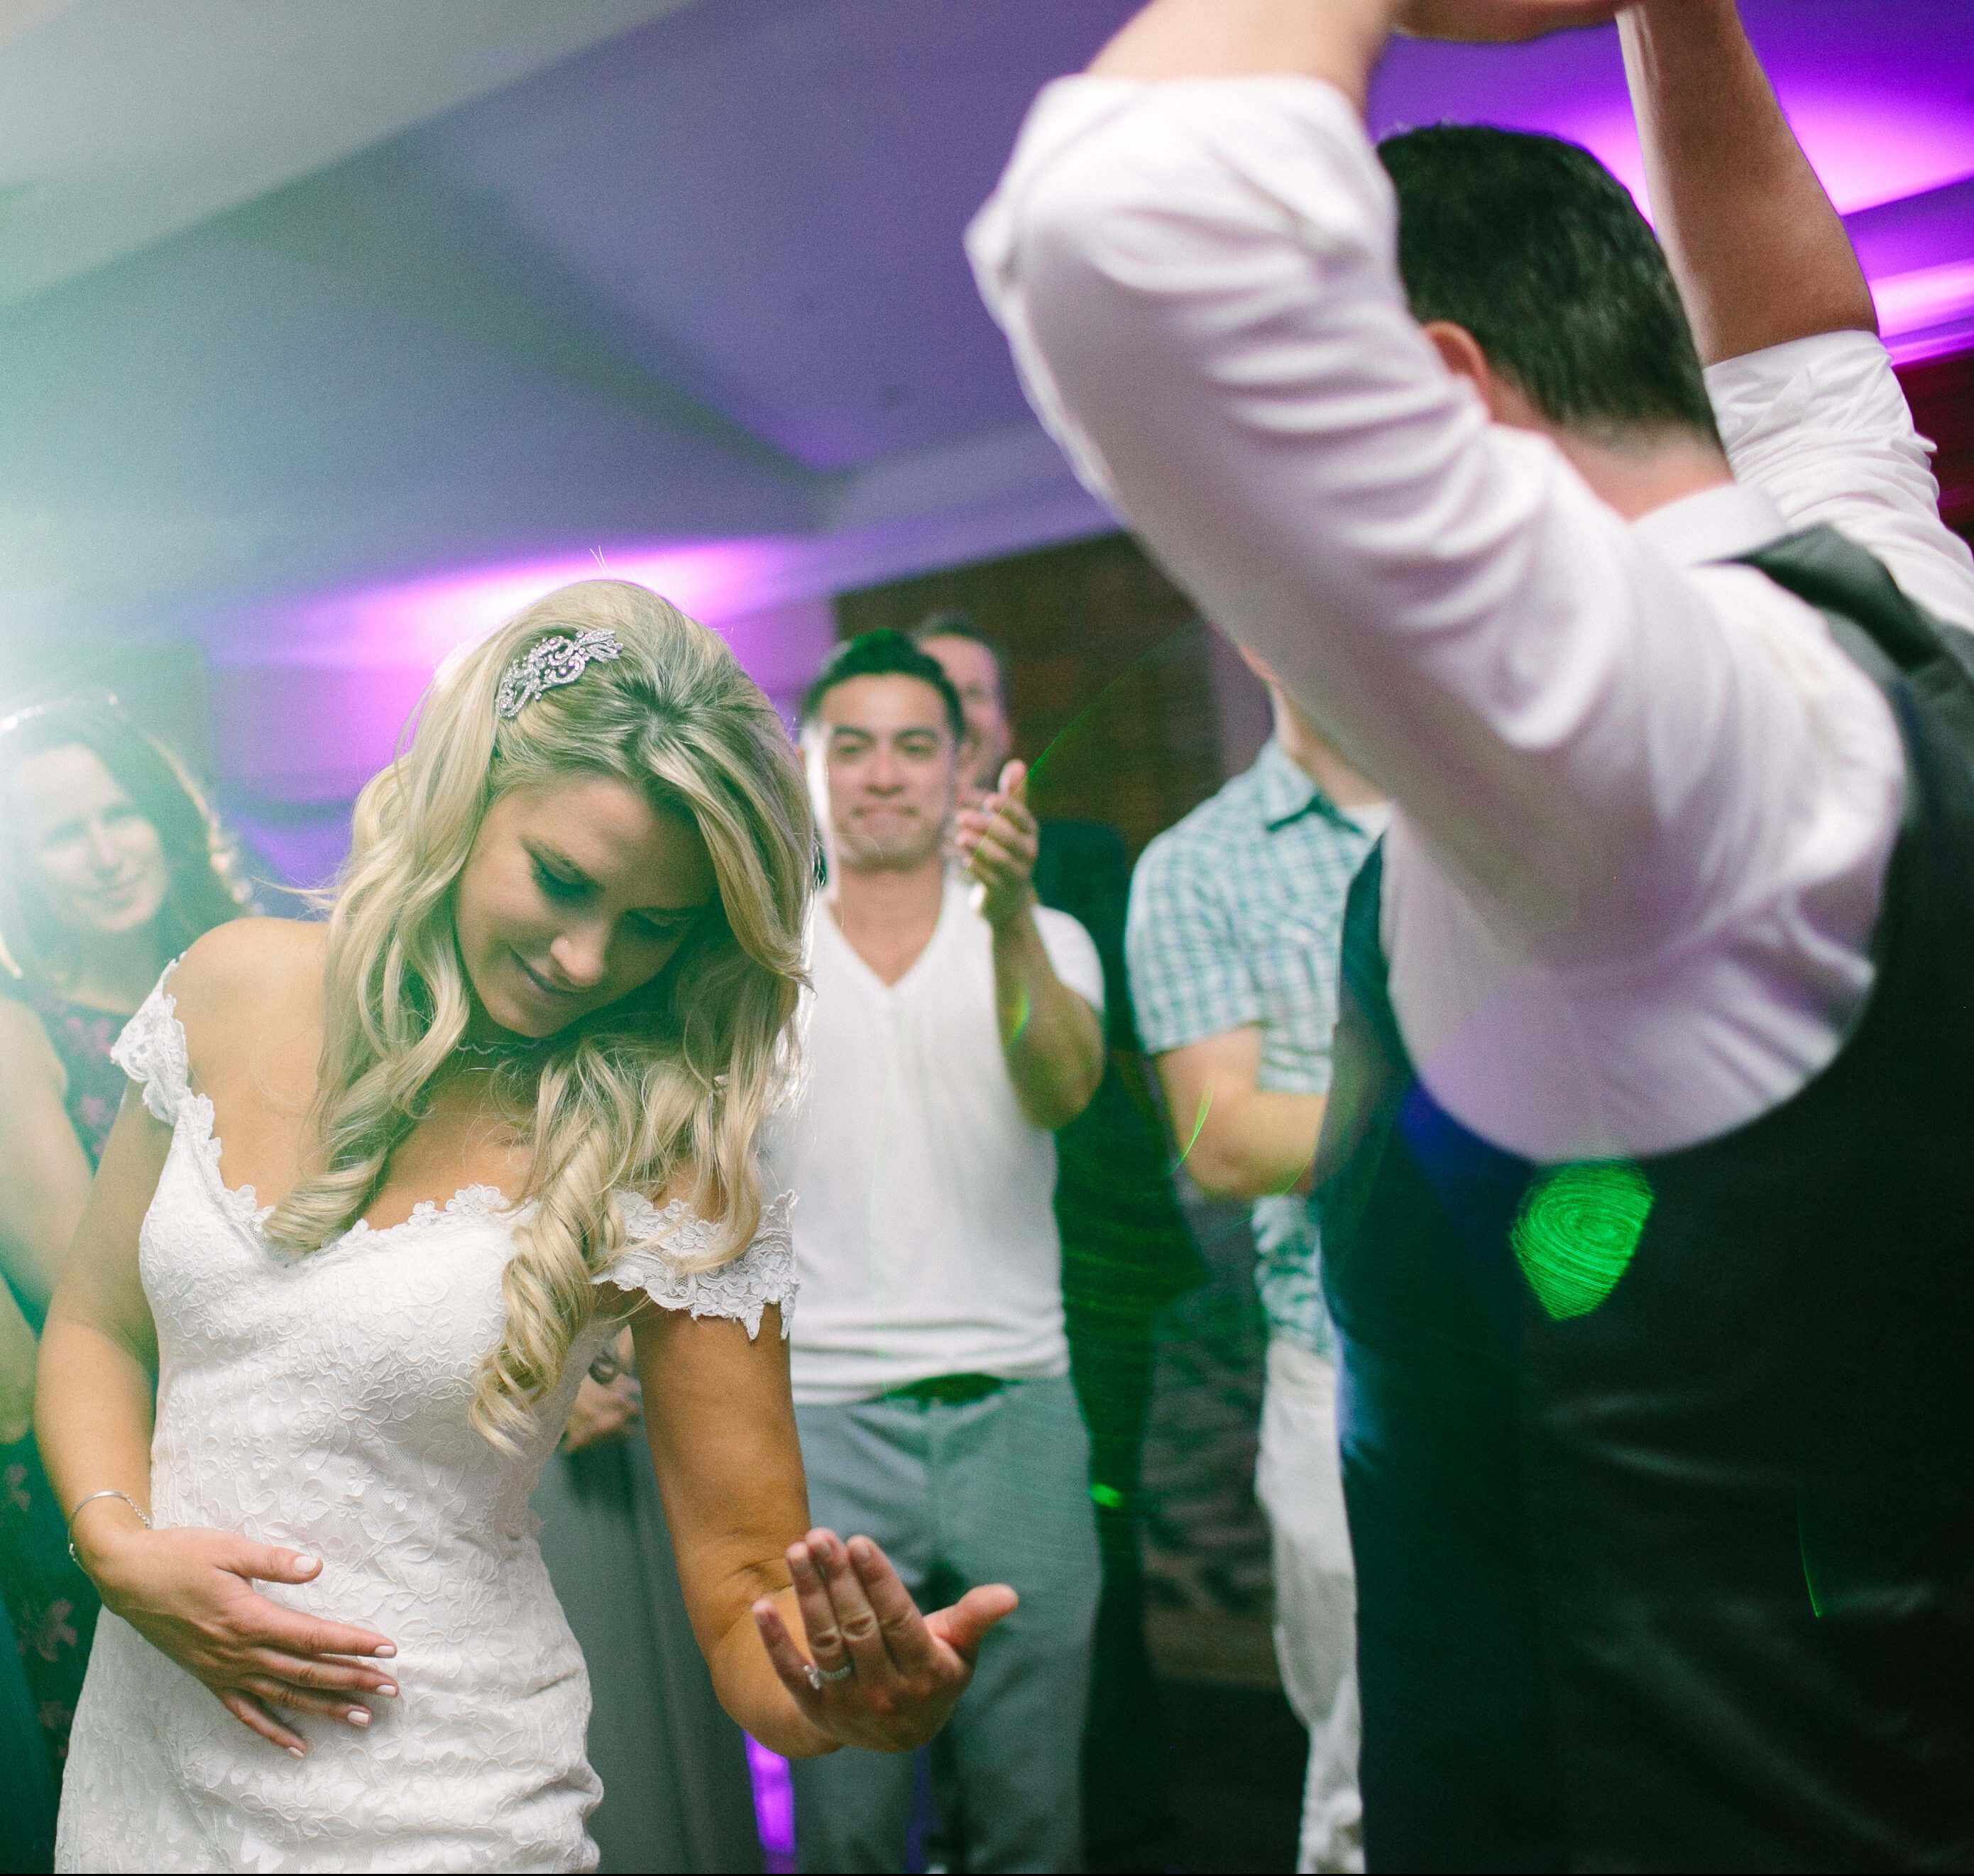
<svg viewBox="0 0 1974 1876"><path fill-rule="evenodd" d="M1323 1209L1372 1864L1952 1866L1974 689L1911 602L1974 565L1731 0L1623 18L1670 273L1585 152L1362 124L1400 24L1617 12L1155 0L973 261L1398 804Z"/></svg>

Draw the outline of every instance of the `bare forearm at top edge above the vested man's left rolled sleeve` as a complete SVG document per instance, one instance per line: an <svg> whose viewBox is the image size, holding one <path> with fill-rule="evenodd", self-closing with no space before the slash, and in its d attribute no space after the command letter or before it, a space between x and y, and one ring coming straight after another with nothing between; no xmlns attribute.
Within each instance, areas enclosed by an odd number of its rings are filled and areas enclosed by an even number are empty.
<svg viewBox="0 0 1974 1876"><path fill-rule="evenodd" d="M1092 77L1327 79L1364 107L1400 0L1153 0L1090 65Z"/></svg>

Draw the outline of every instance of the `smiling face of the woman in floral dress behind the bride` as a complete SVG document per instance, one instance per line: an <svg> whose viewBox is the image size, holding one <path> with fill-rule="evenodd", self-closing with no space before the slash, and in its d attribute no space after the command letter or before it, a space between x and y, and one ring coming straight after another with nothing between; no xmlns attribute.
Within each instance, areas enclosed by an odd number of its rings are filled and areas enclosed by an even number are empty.
<svg viewBox="0 0 1974 1876"><path fill-rule="evenodd" d="M172 871L158 827L95 750L63 743L14 768L20 843L47 910L81 944L148 926Z"/></svg>

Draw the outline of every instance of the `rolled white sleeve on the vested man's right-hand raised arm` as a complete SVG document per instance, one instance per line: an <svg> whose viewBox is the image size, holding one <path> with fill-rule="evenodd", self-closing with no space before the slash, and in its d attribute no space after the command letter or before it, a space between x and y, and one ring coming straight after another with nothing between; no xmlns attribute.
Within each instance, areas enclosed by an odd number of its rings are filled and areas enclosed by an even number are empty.
<svg viewBox="0 0 1974 1876"><path fill-rule="evenodd" d="M1708 371L1735 476L1794 527L1836 527L1935 616L1974 630L1974 553L1940 521L1933 444L1869 332L1826 332Z"/></svg>

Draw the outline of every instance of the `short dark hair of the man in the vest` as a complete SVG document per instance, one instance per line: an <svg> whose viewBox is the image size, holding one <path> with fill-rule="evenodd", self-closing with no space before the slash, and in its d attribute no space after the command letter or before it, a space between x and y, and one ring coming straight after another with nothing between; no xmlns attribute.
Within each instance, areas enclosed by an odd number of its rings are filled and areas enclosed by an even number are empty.
<svg viewBox="0 0 1974 1876"><path fill-rule="evenodd" d="M1437 124L1388 136L1378 156L1398 188L1398 267L1421 326L1465 326L1550 423L1719 442L1672 269L1589 150Z"/></svg>

